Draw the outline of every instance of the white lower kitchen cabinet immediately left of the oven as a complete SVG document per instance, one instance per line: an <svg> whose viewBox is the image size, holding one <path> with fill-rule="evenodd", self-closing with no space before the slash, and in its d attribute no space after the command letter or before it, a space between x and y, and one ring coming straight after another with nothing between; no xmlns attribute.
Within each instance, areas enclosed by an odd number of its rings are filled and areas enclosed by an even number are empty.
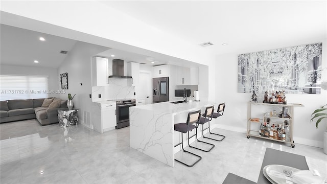
<svg viewBox="0 0 327 184"><path fill-rule="evenodd" d="M104 131L115 129L116 119L116 104L103 104L101 105L101 129Z"/></svg>

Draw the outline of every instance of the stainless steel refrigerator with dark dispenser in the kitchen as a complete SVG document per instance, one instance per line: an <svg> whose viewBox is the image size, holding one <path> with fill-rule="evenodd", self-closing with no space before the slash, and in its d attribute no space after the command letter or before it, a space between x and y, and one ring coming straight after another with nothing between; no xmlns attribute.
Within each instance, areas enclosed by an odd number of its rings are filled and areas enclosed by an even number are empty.
<svg viewBox="0 0 327 184"><path fill-rule="evenodd" d="M160 77L152 79L152 102L167 102L169 101L169 78Z"/></svg>

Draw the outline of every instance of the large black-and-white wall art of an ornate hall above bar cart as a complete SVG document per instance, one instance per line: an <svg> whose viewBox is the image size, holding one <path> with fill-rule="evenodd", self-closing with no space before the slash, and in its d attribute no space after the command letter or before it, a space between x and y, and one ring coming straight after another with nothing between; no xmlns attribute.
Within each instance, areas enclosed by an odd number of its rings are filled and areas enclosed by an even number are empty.
<svg viewBox="0 0 327 184"><path fill-rule="evenodd" d="M240 54L238 92L320 94L322 43Z"/></svg>

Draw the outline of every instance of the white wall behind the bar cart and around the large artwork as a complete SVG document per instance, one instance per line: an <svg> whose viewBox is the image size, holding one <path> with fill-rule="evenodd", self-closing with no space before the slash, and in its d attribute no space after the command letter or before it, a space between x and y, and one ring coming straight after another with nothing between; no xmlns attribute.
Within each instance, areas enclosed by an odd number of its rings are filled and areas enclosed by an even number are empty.
<svg viewBox="0 0 327 184"><path fill-rule="evenodd" d="M327 80L327 40L322 42L322 80ZM294 45L289 45L294 46ZM276 49L276 48L271 48ZM246 133L247 102L251 94L237 93L238 81L238 55L243 53L231 53L218 55L216 58L216 102L226 102L224 116L217 120L218 127ZM228 70L226 70L228 68ZM316 147L322 147L323 132L326 130L326 122L320 123L316 129L315 124L310 122L311 113L314 109L327 104L326 90L319 95L310 94L287 94L288 103L301 103L305 107L294 109L294 142ZM262 112L264 113L264 112ZM244 135L245 136L245 135Z"/></svg>

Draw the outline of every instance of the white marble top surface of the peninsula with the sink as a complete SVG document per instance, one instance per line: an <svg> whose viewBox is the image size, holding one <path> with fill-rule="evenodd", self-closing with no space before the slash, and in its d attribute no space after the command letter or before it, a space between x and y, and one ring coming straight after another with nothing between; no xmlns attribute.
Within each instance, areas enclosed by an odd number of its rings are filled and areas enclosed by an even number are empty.
<svg viewBox="0 0 327 184"><path fill-rule="evenodd" d="M142 106L134 106L131 108L153 110L156 111L156 113L171 113L174 116L178 113L182 113L185 111L201 109L203 106L215 105L215 102L209 102L209 101L198 101L198 102L190 101L190 102L179 103L179 104L173 104L170 102L176 102L176 100L169 101L169 102L147 104Z"/></svg>

